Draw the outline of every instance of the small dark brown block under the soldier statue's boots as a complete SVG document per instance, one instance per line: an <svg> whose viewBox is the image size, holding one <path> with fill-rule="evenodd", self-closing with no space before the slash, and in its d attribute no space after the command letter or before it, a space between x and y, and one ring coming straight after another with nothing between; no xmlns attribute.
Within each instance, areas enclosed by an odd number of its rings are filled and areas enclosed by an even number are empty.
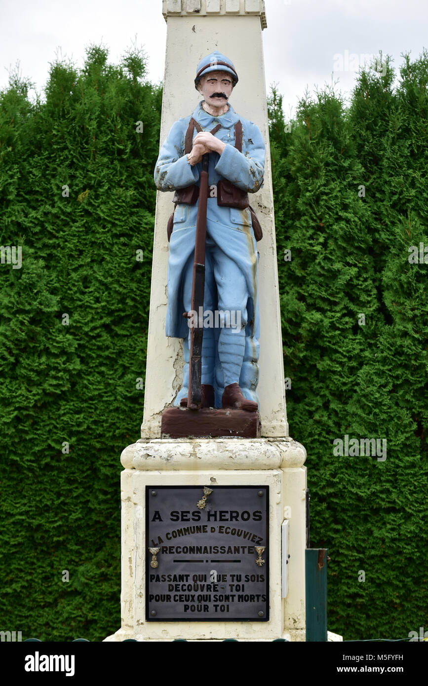
<svg viewBox="0 0 428 686"><path fill-rule="evenodd" d="M168 407L160 424L162 438L260 438L259 412L203 407Z"/></svg>

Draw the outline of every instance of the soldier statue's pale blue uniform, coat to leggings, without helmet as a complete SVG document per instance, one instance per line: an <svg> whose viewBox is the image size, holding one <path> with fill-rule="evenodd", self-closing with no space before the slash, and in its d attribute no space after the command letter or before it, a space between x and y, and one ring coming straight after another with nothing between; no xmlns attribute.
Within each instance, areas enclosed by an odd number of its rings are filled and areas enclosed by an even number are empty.
<svg viewBox="0 0 428 686"><path fill-rule="evenodd" d="M217 67L219 69L219 67ZM222 69L222 67L220 67ZM215 405L221 407L224 386L239 383L244 397L259 402L259 305L257 299L258 253L250 210L217 204L217 182L227 179L242 191L254 193L263 185L265 143L259 128L233 107L214 117L202 108L202 102L189 117L174 123L163 143L154 180L160 191L198 185L201 163L190 165L185 155L185 137L189 121L199 123L203 131L221 128L215 136L226 143L221 155L209 154L209 198L206 210L206 265L204 312L215 310L240 313L241 328L204 328L202 344L202 383L215 389ZM235 148L235 124L242 125L242 152ZM193 132L193 137L196 130ZM195 248L198 202L176 206L174 228L169 243L167 336L184 338L182 388L175 403L187 396L189 378L189 325L182 314L191 309L191 284ZM236 322L236 320L235 320Z"/></svg>

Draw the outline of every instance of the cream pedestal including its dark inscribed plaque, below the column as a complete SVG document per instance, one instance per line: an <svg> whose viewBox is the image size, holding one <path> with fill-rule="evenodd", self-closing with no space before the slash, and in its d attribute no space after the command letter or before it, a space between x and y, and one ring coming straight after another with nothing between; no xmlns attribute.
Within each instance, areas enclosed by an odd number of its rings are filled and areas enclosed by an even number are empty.
<svg viewBox="0 0 428 686"><path fill-rule="evenodd" d="M305 641L305 458L289 437L124 449L121 628L106 640ZM199 587L213 571L222 587Z"/></svg>

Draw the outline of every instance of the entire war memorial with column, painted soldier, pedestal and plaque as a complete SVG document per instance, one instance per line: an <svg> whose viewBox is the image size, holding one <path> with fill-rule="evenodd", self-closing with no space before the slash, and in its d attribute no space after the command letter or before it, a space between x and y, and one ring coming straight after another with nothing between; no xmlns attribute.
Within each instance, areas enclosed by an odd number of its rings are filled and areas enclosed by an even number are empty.
<svg viewBox="0 0 428 686"><path fill-rule="evenodd" d="M107 641L305 641L305 448L288 434L259 0L164 0L141 438ZM174 203L174 204L173 204Z"/></svg>

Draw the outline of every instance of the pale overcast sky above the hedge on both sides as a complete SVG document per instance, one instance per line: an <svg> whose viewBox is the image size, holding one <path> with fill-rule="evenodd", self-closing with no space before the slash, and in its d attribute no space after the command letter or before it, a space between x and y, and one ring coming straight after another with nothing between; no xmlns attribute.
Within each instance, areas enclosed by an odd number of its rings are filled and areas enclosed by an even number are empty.
<svg viewBox="0 0 428 686"><path fill-rule="evenodd" d="M416 58L428 47L427 0L265 0L266 84L278 84L285 115L306 87L331 80L349 93L365 56ZM0 89L19 62L21 75L43 95L56 54L82 67L85 47L102 43L119 62L134 43L148 56L149 78L163 79L167 25L161 0L0 0ZM381 69L381 65L379 65ZM34 95L30 93L30 95Z"/></svg>

